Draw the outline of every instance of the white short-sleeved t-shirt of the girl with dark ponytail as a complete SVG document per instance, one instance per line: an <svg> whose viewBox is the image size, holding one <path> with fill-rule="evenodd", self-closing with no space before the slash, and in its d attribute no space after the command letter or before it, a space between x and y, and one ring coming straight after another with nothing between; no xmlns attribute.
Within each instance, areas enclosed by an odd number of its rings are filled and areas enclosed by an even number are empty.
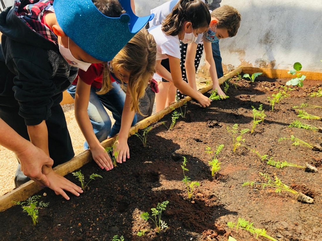
<svg viewBox="0 0 322 241"><path fill-rule="evenodd" d="M161 27L162 25L158 25L148 29L156 41L156 60L167 59L168 56L166 54L180 59L181 53L178 35L166 35Z"/></svg>

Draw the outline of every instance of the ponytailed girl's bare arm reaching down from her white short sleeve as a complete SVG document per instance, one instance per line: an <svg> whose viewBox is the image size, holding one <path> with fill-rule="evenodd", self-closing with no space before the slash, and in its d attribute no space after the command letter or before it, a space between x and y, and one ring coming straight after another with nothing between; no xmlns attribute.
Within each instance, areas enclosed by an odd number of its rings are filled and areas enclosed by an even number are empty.
<svg viewBox="0 0 322 241"><path fill-rule="evenodd" d="M190 96L191 98L194 98L196 101L198 101L203 107L210 105L210 100L200 92L192 89L188 83L186 83L184 80L182 80L182 73L180 68L180 59L175 58L173 56L169 55L169 64L170 64L170 71L173 83L175 87L185 95Z"/></svg>

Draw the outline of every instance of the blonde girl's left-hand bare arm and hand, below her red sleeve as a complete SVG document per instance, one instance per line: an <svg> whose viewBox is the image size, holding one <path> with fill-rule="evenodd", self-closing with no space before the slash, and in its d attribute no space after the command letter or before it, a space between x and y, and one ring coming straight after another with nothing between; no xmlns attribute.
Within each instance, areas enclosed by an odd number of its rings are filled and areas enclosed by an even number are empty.
<svg viewBox="0 0 322 241"><path fill-rule="evenodd" d="M112 160L95 136L87 108L90 101L90 85L78 78L75 94L75 117L92 153L94 161L101 169L113 168Z"/></svg>

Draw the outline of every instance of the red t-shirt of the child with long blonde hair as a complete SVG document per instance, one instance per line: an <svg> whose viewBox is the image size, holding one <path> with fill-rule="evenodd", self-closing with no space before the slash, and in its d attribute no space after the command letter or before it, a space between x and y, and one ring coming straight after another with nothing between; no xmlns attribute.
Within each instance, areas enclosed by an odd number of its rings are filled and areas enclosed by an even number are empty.
<svg viewBox="0 0 322 241"><path fill-rule="evenodd" d="M101 63L92 63L87 71L79 70L76 79L73 81L73 85L77 84L78 77L81 78L86 84L90 84L96 89L102 87L103 82L103 65ZM109 75L111 82L115 82L114 78Z"/></svg>

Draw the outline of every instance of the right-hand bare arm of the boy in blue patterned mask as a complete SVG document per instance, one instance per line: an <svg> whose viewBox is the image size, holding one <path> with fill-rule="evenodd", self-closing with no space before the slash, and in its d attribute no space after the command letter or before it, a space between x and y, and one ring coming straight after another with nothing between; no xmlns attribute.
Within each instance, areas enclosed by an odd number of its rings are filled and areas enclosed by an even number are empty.
<svg viewBox="0 0 322 241"><path fill-rule="evenodd" d="M226 95L219 86L216 65L215 65L215 61L213 60L213 52L212 52L210 42L204 41L204 53L205 53L205 60L206 60L207 67L209 69L210 77L213 81L213 90L217 90L218 95L225 98Z"/></svg>

